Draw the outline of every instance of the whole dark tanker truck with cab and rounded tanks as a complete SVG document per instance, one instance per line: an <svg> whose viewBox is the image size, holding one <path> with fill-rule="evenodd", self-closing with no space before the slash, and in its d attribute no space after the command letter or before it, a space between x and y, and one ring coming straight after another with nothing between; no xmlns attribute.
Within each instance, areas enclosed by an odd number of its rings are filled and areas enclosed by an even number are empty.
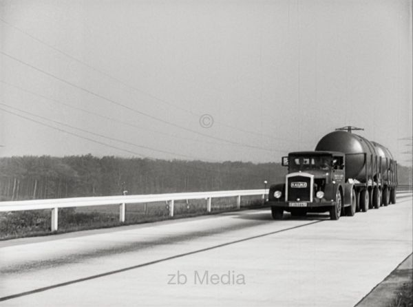
<svg viewBox="0 0 413 307"><path fill-rule="evenodd" d="M396 203L397 164L377 142L352 133L354 127L326 134L314 151L291 152L285 182L271 185L267 204L274 220L291 215L330 213L331 220Z"/></svg>

